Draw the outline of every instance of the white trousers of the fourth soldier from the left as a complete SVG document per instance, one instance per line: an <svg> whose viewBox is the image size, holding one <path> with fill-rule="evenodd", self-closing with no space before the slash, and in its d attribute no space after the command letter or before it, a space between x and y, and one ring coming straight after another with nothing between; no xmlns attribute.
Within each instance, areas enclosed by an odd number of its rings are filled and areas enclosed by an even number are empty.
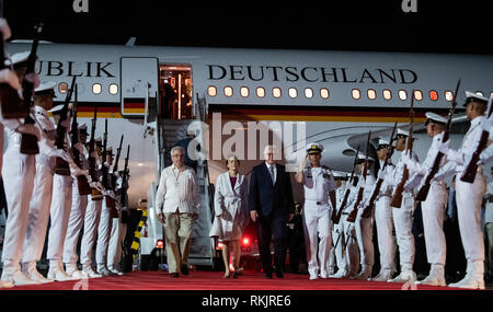
<svg viewBox="0 0 493 312"><path fill-rule="evenodd" d="M73 183L72 187L72 207L67 229L67 236L64 243L64 263L77 264L79 256L77 254L77 243L84 223L85 208L88 207L88 195L79 195L79 187Z"/></svg>

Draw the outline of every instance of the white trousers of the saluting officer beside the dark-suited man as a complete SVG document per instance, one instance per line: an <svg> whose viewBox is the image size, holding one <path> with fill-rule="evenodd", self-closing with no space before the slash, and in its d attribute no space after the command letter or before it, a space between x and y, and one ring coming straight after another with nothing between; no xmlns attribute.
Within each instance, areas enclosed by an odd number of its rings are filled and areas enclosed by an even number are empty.
<svg viewBox="0 0 493 312"><path fill-rule="evenodd" d="M319 269L326 273L331 251L331 207L306 200L303 207L305 246L307 250L308 271L318 275ZM319 242L320 239L320 242Z"/></svg>

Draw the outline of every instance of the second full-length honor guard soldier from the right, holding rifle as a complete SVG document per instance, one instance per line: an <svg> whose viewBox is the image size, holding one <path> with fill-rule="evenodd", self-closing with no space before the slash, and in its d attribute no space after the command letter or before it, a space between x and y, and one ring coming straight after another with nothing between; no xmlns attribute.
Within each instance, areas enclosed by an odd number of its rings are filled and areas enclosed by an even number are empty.
<svg viewBox="0 0 493 312"><path fill-rule="evenodd" d="M432 138L432 146L428 149L426 159L422 164L404 154L404 163L411 172L411 178L404 186L409 192L413 192L429 172L438 153L438 147L443 140L447 119L438 114L426 113L426 132ZM445 164L446 158L442 159L440 167ZM444 178L434 180L431 184L426 200L421 203L423 213L423 228L426 246L426 257L431 265L429 275L417 284L432 286L446 286L445 282L445 257L447 246L444 233L444 218L447 206L448 194Z"/></svg>

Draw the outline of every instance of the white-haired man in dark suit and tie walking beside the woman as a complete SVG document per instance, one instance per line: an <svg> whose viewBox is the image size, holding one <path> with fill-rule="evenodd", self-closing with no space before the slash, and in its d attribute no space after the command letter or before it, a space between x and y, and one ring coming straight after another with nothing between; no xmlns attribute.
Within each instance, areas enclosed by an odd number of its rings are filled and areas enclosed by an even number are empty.
<svg viewBox="0 0 493 312"><path fill-rule="evenodd" d="M249 210L257 224L259 251L265 278L272 278L271 239L274 243L276 276L284 277L286 257L286 222L295 216L291 182L284 165L276 164L274 146L264 149L265 162L252 170Z"/></svg>

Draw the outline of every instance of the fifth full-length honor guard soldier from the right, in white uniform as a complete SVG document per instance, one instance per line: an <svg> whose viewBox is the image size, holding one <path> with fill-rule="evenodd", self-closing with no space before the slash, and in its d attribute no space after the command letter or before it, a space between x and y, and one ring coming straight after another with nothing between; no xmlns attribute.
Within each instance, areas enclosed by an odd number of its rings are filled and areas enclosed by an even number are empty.
<svg viewBox="0 0 493 312"><path fill-rule="evenodd" d="M356 230L356 239L358 242L358 249L359 249L359 263L362 265L362 270L359 274L353 279L364 279L367 280L371 277L371 269L374 267L375 263L375 247L374 247L374 222L372 217L369 218L363 218L363 203L367 201L369 197L371 196L371 189L375 185L375 176L371 175L371 170L369 170L374 163L375 160L371 157L368 157L368 160L366 160L365 154L359 153L357 159L357 164L359 172L362 175L359 176L358 185L356 186L356 193L358 193L358 189L363 187L363 198L360 200L360 204L358 206L358 212L356 216L356 221L354 223L355 230ZM366 176L364 175L364 167L368 167ZM357 196L357 194L355 194Z"/></svg>

